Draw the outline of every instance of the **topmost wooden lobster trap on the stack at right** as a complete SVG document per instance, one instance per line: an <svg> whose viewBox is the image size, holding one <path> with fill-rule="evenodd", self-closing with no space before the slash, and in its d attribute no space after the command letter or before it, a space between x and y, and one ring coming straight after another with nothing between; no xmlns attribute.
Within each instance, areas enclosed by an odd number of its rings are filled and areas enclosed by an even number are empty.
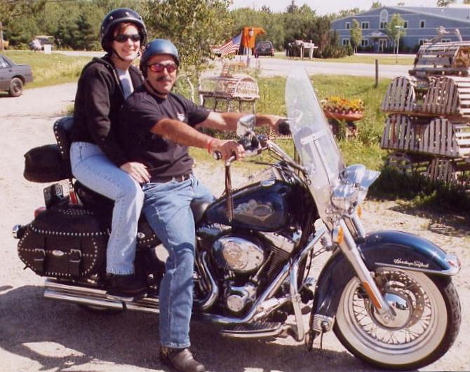
<svg viewBox="0 0 470 372"><path fill-rule="evenodd" d="M470 67L470 41L424 43L419 47L410 75L467 76Z"/></svg>

